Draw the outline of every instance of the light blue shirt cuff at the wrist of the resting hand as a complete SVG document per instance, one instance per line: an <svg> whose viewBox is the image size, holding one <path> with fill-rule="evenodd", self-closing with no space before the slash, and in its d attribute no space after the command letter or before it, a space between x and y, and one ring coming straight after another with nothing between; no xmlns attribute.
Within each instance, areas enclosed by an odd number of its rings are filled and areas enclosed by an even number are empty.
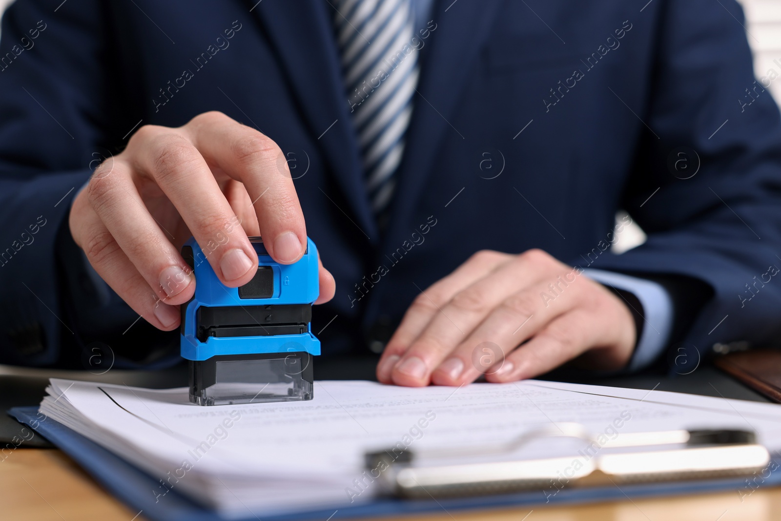
<svg viewBox="0 0 781 521"><path fill-rule="evenodd" d="M672 330L672 298L667 290L651 280L622 273L602 269L583 269L583 273L604 286L629 291L640 301L643 309L636 311L643 317L644 327L627 369L638 371L651 365L665 351Z"/></svg>

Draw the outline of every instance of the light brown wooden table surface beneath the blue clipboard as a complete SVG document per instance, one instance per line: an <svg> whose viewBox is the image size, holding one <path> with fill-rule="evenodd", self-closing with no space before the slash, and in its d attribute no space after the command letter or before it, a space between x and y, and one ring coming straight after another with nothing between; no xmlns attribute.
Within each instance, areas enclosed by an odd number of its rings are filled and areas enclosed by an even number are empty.
<svg viewBox="0 0 781 521"><path fill-rule="evenodd" d="M740 501L737 491L682 498L612 501L593 505L445 512L385 519L428 521L770 521L781 517L781 487L759 489ZM0 519L17 521L141 521L106 494L56 449L19 448L0 461ZM325 519L323 519L325 521Z"/></svg>

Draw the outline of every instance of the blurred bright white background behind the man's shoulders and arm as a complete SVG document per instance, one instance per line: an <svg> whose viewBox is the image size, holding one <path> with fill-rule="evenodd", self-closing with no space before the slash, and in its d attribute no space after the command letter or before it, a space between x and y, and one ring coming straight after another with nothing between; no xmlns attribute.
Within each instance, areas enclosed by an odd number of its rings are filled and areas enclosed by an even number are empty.
<svg viewBox="0 0 781 521"><path fill-rule="evenodd" d="M24 2L25 0L19 0ZM0 12L13 0L0 0ZM679 0L686 2L686 0ZM781 0L739 0L746 12L748 43L754 52L754 73L758 78L766 77L774 70L778 79L772 82L769 91L776 102L781 100ZM736 22L737 23L737 22ZM776 62L778 60L778 62ZM749 87L749 85L746 85ZM735 102L744 92L736 92ZM616 217L616 223L620 216ZM613 252L626 252L645 241L645 234L637 224L623 227L619 240L613 245Z"/></svg>

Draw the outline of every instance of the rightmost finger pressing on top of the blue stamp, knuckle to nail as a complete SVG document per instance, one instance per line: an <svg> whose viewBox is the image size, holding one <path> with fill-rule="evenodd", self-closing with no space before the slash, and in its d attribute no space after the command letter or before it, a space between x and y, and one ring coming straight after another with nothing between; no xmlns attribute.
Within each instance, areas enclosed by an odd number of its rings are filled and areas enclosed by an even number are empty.
<svg viewBox="0 0 781 521"><path fill-rule="evenodd" d="M279 146L222 112L196 116L182 130L209 166L247 188L269 255L283 264L301 259L306 251L304 214Z"/></svg>

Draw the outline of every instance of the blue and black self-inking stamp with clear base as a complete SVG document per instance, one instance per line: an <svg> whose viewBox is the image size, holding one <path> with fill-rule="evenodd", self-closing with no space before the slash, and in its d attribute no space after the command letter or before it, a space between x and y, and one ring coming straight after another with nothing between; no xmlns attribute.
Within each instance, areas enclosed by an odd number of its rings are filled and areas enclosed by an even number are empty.
<svg viewBox="0 0 781 521"><path fill-rule="evenodd" d="M182 256L195 273L195 294L181 306L181 353L190 362L190 401L228 405L311 400L312 303L319 295L317 249L307 240L294 264L274 262L260 237L249 237L258 272L241 287L217 278L194 239Z"/></svg>

